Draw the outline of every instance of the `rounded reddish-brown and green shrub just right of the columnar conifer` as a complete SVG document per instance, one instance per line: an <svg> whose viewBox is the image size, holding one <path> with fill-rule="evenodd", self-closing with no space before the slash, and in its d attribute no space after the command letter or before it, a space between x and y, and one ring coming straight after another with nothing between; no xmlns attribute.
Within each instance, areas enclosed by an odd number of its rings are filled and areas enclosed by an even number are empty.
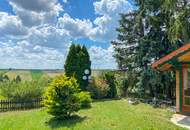
<svg viewBox="0 0 190 130"><path fill-rule="evenodd" d="M91 93L92 98L101 99L107 96L109 86L103 77L92 77L92 82L87 87L87 90Z"/></svg>

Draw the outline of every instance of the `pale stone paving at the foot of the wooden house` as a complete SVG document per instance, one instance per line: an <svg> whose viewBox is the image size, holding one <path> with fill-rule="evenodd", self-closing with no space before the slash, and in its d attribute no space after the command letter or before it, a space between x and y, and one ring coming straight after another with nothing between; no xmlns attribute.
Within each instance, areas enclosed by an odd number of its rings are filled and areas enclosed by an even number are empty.
<svg viewBox="0 0 190 130"><path fill-rule="evenodd" d="M171 121L178 126L181 126L190 130L190 116L174 114L171 118Z"/></svg>

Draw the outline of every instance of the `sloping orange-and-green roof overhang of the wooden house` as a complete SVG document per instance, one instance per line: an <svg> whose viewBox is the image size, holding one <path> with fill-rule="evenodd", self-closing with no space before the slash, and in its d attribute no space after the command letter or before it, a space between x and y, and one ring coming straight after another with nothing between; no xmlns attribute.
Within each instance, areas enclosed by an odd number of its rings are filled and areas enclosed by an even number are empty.
<svg viewBox="0 0 190 130"><path fill-rule="evenodd" d="M190 63L190 43L162 57L152 64L153 69L161 71L170 70L175 63Z"/></svg>

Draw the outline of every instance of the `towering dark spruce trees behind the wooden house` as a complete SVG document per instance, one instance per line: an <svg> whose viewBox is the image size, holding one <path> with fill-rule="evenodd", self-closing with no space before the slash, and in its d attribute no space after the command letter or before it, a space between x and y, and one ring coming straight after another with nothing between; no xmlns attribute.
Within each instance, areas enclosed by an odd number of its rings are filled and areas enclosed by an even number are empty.
<svg viewBox="0 0 190 130"><path fill-rule="evenodd" d="M137 9L121 14L117 40L112 41L115 58L120 69L135 73L135 87L141 94L148 90L151 96L172 96L174 74L155 72L151 63L189 41L185 1L135 0Z"/></svg>

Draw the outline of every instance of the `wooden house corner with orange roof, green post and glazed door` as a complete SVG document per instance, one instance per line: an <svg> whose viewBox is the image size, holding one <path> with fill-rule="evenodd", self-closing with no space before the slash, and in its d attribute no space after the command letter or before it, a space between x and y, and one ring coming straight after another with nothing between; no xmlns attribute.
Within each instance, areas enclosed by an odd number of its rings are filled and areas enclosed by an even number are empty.
<svg viewBox="0 0 190 130"><path fill-rule="evenodd" d="M190 43L152 64L160 71L176 71L176 111L190 114Z"/></svg>

